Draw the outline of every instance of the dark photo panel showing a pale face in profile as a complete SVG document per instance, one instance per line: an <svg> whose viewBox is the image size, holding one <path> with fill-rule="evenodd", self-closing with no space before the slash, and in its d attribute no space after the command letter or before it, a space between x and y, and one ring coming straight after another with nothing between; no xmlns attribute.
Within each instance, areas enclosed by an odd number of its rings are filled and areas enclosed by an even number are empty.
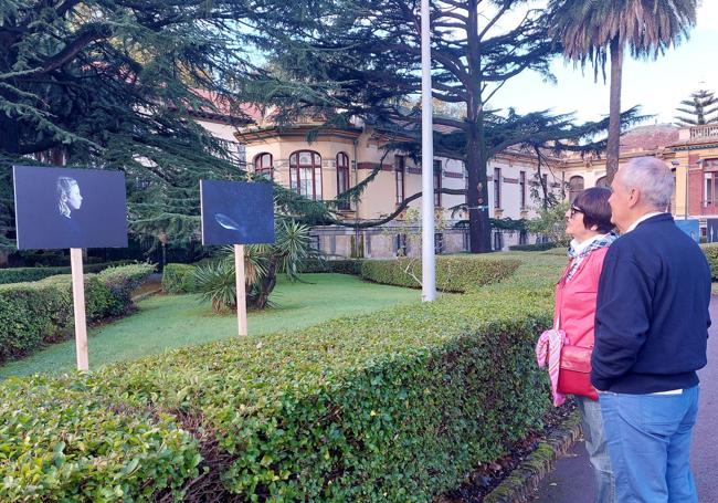
<svg viewBox="0 0 718 503"><path fill-rule="evenodd" d="M13 167L18 249L125 248L125 175Z"/></svg>

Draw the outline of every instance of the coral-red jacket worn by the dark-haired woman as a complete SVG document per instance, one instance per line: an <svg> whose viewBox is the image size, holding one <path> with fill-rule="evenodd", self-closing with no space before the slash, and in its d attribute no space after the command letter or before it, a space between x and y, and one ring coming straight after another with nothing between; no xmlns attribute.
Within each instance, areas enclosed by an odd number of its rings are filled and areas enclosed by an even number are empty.
<svg viewBox="0 0 718 503"><path fill-rule="evenodd" d="M567 266L556 285L553 323L560 314L559 328L566 332L570 344L574 346L593 347L595 298L603 259L608 251L608 247L592 251L583 259L568 283L564 281Z"/></svg>

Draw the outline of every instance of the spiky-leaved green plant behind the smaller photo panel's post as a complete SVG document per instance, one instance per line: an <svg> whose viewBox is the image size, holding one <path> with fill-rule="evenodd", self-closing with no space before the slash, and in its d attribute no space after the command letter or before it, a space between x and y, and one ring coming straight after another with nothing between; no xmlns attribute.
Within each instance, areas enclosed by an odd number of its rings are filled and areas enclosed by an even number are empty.
<svg viewBox="0 0 718 503"><path fill-rule="evenodd" d="M309 260L321 260L320 252L313 247L310 228L292 219L278 218L273 244L244 247L247 305L260 310L267 307L277 274L284 273L296 281L302 266ZM225 247L220 260L199 266L196 281L199 292L212 303L214 312L235 310L234 249Z"/></svg>

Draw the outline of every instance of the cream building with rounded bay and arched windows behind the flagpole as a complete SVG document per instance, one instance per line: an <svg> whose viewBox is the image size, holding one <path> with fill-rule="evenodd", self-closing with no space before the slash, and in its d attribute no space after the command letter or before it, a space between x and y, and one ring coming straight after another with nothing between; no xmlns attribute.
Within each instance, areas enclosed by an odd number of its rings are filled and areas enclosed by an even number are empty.
<svg viewBox="0 0 718 503"><path fill-rule="evenodd" d="M388 150L397 142L390 135L355 120L349 127L319 127L320 120L305 120L293 126L277 126L263 117L235 134L244 145L247 169L315 200L332 200L339 193L374 175L358 202L338 208L348 227L315 228L320 250L335 256L387 258L416 256L420 250L420 222L412 218L421 208L421 198L409 203L397 219L369 229L352 228L356 222L384 219L413 195L421 192L422 166L405 151ZM401 138L411 142L411 137ZM461 160L435 157L432 164L434 187L465 189L467 176ZM514 220L535 216L531 187L537 186L536 158L513 151L492 159L488 167L489 216ZM545 175L551 190L561 190L553 174ZM434 244L437 253L467 250L468 234L462 220L465 211L457 209L465 196L435 193L437 226ZM413 210L413 211L412 211ZM495 250L511 244L535 242L518 231L494 231Z"/></svg>

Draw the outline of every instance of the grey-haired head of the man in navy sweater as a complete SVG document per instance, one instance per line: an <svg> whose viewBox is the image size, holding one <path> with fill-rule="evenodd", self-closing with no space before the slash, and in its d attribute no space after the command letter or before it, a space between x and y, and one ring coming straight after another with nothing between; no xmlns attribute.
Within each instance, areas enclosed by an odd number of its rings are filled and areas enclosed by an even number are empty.
<svg viewBox="0 0 718 503"><path fill-rule="evenodd" d="M623 186L638 189L645 201L656 210L666 211L676 185L668 166L655 157L636 157L621 167Z"/></svg>

